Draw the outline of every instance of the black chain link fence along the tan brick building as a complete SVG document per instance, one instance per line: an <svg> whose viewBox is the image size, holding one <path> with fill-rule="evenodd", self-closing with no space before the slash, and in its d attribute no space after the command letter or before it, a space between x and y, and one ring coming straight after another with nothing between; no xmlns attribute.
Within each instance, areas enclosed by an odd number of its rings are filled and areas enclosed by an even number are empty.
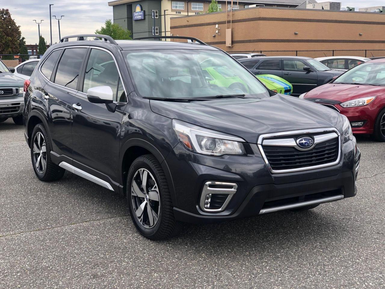
<svg viewBox="0 0 385 289"><path fill-rule="evenodd" d="M363 49L363 50L253 50L253 51L228 51L228 53L263 53L266 56L361 56L377 57L385 56L385 49Z"/></svg>

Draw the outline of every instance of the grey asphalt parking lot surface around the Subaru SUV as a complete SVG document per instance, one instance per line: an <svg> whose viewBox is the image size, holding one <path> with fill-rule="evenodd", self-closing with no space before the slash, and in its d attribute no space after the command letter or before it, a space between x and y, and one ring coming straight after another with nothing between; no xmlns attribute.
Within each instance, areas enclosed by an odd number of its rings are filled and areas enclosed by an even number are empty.
<svg viewBox="0 0 385 289"><path fill-rule="evenodd" d="M358 194L308 212L136 231L122 197L43 183L23 127L0 123L0 288L385 288L385 143L359 138Z"/></svg>

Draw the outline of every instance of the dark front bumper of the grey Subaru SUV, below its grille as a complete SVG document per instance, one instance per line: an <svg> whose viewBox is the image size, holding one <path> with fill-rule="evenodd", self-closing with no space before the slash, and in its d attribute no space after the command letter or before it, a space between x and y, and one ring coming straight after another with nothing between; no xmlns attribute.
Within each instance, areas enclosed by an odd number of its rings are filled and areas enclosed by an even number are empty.
<svg viewBox="0 0 385 289"><path fill-rule="evenodd" d="M257 146L250 144L248 150L248 156L218 158L191 153L178 144L166 158L176 192L173 198L176 219L191 223L220 222L276 211L271 208L289 209L284 206L295 203L354 197L357 193L360 152L355 139L343 144L338 164L293 173L270 173ZM238 186L222 212L205 212L199 205L207 181Z"/></svg>

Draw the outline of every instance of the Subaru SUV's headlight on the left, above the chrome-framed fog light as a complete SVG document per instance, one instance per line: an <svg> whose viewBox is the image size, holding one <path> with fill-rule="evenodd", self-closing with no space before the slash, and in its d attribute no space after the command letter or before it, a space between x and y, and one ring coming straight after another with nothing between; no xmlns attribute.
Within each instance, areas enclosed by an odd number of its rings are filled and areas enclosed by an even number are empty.
<svg viewBox="0 0 385 289"><path fill-rule="evenodd" d="M236 136L194 126L177 119L172 120L172 127L187 150L213 156L246 154L244 139Z"/></svg>

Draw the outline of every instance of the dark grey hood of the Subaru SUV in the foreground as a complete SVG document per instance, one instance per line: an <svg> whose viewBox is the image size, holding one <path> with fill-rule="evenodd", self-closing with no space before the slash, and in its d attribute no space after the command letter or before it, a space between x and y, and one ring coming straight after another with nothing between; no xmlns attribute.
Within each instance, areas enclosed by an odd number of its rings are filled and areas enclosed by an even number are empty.
<svg viewBox="0 0 385 289"><path fill-rule="evenodd" d="M215 99L166 102L151 100L154 113L214 129L256 143L265 133L335 127L342 132L342 116L330 108L292 96L264 99Z"/></svg>

